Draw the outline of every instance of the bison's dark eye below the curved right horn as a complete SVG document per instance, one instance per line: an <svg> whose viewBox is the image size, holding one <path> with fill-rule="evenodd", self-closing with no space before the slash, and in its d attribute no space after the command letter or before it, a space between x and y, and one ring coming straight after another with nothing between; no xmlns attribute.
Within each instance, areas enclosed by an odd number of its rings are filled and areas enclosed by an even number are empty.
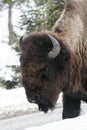
<svg viewBox="0 0 87 130"><path fill-rule="evenodd" d="M43 68L43 69L40 71L40 76L41 76L41 78L44 79L44 80L50 80L51 75L52 75L52 69L51 69L50 66L46 66L45 68Z"/></svg>

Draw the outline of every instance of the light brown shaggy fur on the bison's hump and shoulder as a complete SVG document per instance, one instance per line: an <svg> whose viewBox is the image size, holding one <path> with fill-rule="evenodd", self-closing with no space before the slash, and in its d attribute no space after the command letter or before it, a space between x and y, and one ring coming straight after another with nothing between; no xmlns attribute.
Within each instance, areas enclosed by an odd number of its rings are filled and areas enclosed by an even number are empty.
<svg viewBox="0 0 87 130"><path fill-rule="evenodd" d="M87 74L85 77L82 76L83 72L87 71L87 1L68 4L54 25L53 32L58 39L70 47L72 52L71 81L73 82L70 88L72 91L82 91L86 86L81 82L87 79Z"/></svg>

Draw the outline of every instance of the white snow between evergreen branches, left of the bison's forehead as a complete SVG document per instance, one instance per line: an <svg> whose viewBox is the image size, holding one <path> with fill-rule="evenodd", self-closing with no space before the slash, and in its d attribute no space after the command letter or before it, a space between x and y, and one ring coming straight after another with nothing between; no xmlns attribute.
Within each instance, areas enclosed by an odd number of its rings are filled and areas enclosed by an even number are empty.
<svg viewBox="0 0 87 130"><path fill-rule="evenodd" d="M0 77L11 79L13 72L6 66L19 64L18 54L7 44L0 44Z"/></svg>

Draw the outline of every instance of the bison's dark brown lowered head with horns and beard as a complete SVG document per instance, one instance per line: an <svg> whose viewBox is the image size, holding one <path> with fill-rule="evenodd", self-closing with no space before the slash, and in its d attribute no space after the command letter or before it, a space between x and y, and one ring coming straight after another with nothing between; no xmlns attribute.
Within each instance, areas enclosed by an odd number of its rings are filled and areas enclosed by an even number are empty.
<svg viewBox="0 0 87 130"><path fill-rule="evenodd" d="M67 77L62 83L61 79L69 55L66 53L61 59L66 51L61 51L63 46L54 37L34 32L20 39L22 84L28 101L38 104L44 112L54 108L62 84L67 82Z"/></svg>

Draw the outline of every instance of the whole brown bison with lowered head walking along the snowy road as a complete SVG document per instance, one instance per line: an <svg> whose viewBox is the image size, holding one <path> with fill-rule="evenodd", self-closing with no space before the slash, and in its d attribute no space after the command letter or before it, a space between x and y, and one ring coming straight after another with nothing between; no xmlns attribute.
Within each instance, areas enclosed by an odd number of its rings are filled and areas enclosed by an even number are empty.
<svg viewBox="0 0 87 130"><path fill-rule="evenodd" d="M20 38L22 84L30 103L47 113L63 92L63 119L87 103L87 1L66 5L51 31Z"/></svg>

